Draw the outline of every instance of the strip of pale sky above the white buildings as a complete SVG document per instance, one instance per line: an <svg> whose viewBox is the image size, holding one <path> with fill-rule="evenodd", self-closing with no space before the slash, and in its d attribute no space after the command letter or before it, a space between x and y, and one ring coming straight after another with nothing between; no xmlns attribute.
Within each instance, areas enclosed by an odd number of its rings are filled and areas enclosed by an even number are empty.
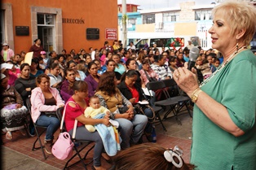
<svg viewBox="0 0 256 170"><path fill-rule="evenodd" d="M121 4L122 0L117 0L118 4ZM155 9L166 7L179 7L180 2L196 2L196 5L210 4L216 2L215 0L126 0L126 3L132 3L139 5L139 9Z"/></svg>

